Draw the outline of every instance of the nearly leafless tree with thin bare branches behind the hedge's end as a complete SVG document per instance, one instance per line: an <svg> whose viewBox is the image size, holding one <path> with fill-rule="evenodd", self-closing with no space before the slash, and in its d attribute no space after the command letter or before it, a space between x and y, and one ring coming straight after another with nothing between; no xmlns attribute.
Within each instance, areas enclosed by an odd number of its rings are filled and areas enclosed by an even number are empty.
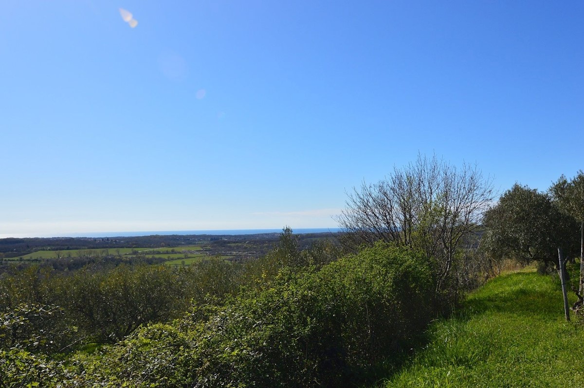
<svg viewBox="0 0 584 388"><path fill-rule="evenodd" d="M347 197L337 218L346 243L354 248L383 240L422 251L432 258L440 290L451 280L465 239L477 232L493 187L475 165L459 168L435 155L419 155L376 184L363 182Z"/></svg>

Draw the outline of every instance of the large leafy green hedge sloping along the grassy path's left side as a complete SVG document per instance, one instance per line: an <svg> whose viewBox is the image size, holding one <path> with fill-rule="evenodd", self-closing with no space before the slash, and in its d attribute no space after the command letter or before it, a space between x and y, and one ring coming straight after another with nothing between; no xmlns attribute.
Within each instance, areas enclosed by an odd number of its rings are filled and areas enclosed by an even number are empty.
<svg viewBox="0 0 584 388"><path fill-rule="evenodd" d="M129 386L332 386L398 351L432 319L423 258L386 244L279 272L223 306L195 306L144 327L100 357L77 359L86 382Z"/></svg>

